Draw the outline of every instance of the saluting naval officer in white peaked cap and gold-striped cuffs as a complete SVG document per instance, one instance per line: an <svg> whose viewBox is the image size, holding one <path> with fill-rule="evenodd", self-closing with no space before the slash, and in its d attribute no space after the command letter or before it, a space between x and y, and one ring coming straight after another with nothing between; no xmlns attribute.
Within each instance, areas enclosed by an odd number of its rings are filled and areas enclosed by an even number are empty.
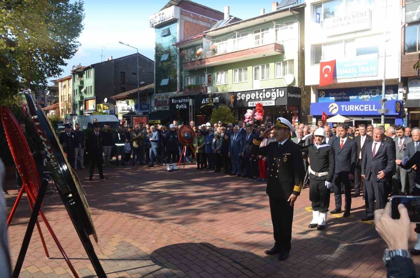
<svg viewBox="0 0 420 278"><path fill-rule="evenodd" d="M277 141L260 147L262 139L272 130L276 131ZM285 118L277 118L271 129L266 129L257 137L251 149L253 155L267 156L266 192L270 200L275 244L265 254L279 253L278 260L281 261L289 257L293 206L302 190L305 175L302 151L298 144L289 140L290 131L294 131L291 123Z"/></svg>

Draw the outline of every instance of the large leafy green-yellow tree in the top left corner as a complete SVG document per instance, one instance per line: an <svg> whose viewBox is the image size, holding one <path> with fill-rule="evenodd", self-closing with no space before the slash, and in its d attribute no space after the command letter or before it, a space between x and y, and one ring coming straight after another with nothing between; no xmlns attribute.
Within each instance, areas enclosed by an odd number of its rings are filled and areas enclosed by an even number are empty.
<svg viewBox="0 0 420 278"><path fill-rule="evenodd" d="M0 1L0 105L19 90L47 87L74 56L83 30L81 0Z"/></svg>

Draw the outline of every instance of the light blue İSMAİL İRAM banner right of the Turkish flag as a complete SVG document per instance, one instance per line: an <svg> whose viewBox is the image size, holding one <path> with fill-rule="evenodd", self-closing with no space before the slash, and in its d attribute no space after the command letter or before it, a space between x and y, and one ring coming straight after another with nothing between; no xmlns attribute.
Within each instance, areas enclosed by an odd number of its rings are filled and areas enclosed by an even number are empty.
<svg viewBox="0 0 420 278"><path fill-rule="evenodd" d="M336 59L336 79L378 76L378 54Z"/></svg>

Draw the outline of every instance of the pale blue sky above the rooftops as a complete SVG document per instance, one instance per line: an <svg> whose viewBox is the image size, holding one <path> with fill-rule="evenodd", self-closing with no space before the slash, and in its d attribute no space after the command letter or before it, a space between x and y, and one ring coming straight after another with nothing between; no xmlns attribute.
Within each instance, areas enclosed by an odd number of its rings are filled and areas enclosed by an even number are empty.
<svg viewBox="0 0 420 278"><path fill-rule="evenodd" d="M271 10L272 0L196 0L202 5L223 11L223 7L230 6L230 13L241 19L246 19ZM85 0L84 3L84 30L79 42L81 46L73 58L66 60L67 66L63 67L64 72L58 76L68 76L71 66L81 63L87 66L101 61L101 47L103 59L110 56L113 58L122 57L135 53L135 49L121 45L122 41L139 48L139 52L154 60L155 33L149 27L149 16L156 13L168 0ZM54 80L57 78L50 78Z"/></svg>

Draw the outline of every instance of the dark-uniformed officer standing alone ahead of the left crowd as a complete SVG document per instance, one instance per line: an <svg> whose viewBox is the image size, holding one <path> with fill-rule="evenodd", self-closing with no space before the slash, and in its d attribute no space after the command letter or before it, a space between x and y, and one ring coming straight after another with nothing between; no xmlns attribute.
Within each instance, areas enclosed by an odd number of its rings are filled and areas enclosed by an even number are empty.
<svg viewBox="0 0 420 278"><path fill-rule="evenodd" d="M93 123L93 133L87 136L86 149L90 155L89 181L92 181L95 165L98 167L99 177L107 179L102 172L102 134L99 131L99 123Z"/></svg>

